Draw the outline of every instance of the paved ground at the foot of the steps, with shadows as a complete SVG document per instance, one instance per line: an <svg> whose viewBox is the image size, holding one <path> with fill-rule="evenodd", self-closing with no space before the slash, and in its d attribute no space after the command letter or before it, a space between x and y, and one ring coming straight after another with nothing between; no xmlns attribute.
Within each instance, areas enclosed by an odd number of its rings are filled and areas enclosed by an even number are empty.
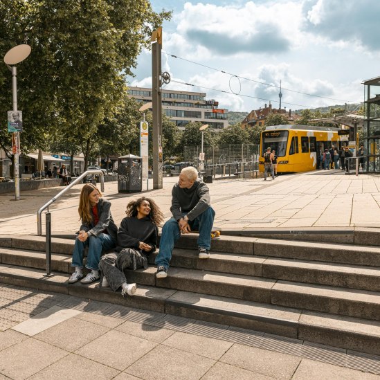
<svg viewBox="0 0 380 380"><path fill-rule="evenodd" d="M380 356L13 285L0 302L0 379L380 379Z"/></svg>

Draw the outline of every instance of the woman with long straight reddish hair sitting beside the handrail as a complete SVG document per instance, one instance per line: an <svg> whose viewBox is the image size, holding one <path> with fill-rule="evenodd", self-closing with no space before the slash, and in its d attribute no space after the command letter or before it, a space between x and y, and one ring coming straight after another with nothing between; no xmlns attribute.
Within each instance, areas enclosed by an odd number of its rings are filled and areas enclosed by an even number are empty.
<svg viewBox="0 0 380 380"><path fill-rule="evenodd" d="M100 278L99 261L102 251L116 246L118 228L112 219L111 202L103 199L98 188L90 183L86 183L80 192L78 212L82 226L75 239L71 263L75 272L69 278L69 283L73 284L82 279L82 284L91 284ZM87 246L89 251L86 268L90 273L83 278L83 253Z"/></svg>

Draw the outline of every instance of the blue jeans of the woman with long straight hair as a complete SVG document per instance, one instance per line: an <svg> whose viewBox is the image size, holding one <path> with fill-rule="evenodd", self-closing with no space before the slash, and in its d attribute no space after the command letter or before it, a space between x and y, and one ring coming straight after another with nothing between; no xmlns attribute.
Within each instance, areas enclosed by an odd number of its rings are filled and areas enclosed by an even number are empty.
<svg viewBox="0 0 380 380"><path fill-rule="evenodd" d="M73 261L71 266L83 266L83 252L84 248L89 246L89 252L87 253L87 269L99 270L100 256L103 249L111 249L116 247L116 240L107 233L101 233L100 235L90 235L85 242L81 242L78 237L75 239L75 246L73 252Z"/></svg>

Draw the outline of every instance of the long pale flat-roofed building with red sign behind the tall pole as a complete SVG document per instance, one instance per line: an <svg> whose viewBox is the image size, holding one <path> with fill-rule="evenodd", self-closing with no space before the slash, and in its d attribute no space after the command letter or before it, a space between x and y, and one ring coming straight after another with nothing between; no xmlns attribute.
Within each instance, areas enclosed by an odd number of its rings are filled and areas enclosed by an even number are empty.
<svg viewBox="0 0 380 380"><path fill-rule="evenodd" d="M129 87L128 93L139 102L152 102L152 89ZM179 129L190 121L208 124L215 131L228 127L228 109L220 109L216 100L206 100L206 93L162 90L162 110Z"/></svg>

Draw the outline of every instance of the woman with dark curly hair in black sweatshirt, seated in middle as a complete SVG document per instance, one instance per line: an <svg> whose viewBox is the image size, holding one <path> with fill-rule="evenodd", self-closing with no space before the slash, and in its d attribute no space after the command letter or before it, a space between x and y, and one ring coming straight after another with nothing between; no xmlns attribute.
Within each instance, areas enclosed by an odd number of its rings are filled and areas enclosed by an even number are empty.
<svg viewBox="0 0 380 380"><path fill-rule="evenodd" d="M147 255L156 251L159 228L163 213L153 199L141 197L127 204L125 217L118 229L115 252L100 260L100 286L121 288L121 294L133 296L136 284L128 284L125 269L147 269Z"/></svg>

